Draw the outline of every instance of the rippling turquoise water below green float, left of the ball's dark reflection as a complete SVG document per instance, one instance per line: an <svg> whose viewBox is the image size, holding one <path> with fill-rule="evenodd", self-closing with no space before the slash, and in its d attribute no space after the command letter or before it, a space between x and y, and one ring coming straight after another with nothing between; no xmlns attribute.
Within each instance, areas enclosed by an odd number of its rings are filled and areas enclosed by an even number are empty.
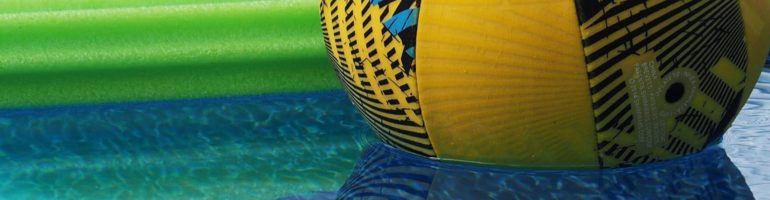
<svg viewBox="0 0 770 200"><path fill-rule="evenodd" d="M7 111L0 199L336 191L373 140L362 120L341 92Z"/></svg>

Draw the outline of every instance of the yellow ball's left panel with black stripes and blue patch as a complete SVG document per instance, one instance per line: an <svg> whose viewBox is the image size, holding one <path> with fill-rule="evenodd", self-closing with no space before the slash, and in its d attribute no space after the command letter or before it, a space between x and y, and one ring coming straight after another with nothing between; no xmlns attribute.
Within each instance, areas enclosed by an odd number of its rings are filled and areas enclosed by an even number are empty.
<svg viewBox="0 0 770 200"><path fill-rule="evenodd" d="M415 19L417 8L409 0L323 0L321 25L342 85L377 135L397 148L435 156L418 104L416 24L403 21Z"/></svg>

